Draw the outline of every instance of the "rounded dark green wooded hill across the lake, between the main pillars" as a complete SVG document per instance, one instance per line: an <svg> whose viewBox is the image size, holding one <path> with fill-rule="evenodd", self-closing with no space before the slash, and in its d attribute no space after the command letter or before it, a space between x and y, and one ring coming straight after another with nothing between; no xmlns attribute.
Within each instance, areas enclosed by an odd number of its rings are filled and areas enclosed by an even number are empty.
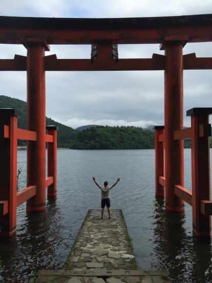
<svg viewBox="0 0 212 283"><path fill-rule="evenodd" d="M71 149L154 149L155 133L136 127L97 126L83 130Z"/></svg>

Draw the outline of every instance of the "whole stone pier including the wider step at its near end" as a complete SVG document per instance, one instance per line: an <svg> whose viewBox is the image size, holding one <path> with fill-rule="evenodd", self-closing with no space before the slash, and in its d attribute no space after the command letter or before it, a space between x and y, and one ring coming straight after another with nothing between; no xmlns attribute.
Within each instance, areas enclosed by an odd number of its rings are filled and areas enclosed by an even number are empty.
<svg viewBox="0 0 212 283"><path fill-rule="evenodd" d="M100 213L89 210L63 269L39 271L37 283L171 282L166 270L139 270L121 210Z"/></svg>

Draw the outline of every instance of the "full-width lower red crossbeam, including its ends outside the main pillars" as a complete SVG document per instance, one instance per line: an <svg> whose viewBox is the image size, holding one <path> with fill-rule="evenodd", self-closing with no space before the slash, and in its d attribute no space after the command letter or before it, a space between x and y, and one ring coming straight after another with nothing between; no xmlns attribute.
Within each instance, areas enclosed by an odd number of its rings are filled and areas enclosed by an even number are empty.
<svg viewBox="0 0 212 283"><path fill-rule="evenodd" d="M170 36L173 38L173 36ZM56 55L45 57L46 71L131 71L131 70L164 70L164 56L153 54L153 58L147 59L98 59L92 61L90 59L57 59ZM100 61L101 60L101 61ZM115 63L118 63L116 65ZM105 68L105 69L104 69ZM212 57L197 58L195 53L183 56L184 70L203 70L212 69ZM26 71L26 56L15 55L14 59L0 59L0 71Z"/></svg>

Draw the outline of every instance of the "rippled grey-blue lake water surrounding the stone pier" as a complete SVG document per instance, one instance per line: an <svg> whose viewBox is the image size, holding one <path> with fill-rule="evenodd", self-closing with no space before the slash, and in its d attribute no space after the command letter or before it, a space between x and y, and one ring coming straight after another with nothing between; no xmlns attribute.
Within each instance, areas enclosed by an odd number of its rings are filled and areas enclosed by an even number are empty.
<svg viewBox="0 0 212 283"><path fill-rule="evenodd" d="M18 151L20 189L26 187L26 154ZM26 203L20 205L16 235L0 240L0 281L29 282L37 270L62 268L88 210L100 208L92 176L100 185L121 178L111 191L111 207L123 211L140 269L168 269L173 282L212 281L211 243L193 236L192 207L170 213L163 198L155 197L154 150L67 149L58 150L57 159L57 198L47 199L46 211L38 214L27 214ZM185 149L187 189L190 159Z"/></svg>

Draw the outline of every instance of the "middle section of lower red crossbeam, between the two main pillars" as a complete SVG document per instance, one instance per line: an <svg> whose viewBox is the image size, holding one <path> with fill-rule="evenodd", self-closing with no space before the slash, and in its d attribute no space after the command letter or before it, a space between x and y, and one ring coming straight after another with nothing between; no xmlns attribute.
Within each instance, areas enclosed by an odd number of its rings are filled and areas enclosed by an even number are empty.
<svg viewBox="0 0 212 283"><path fill-rule="evenodd" d="M165 57L153 54L147 59L57 59L44 57L45 71L139 71L164 70Z"/></svg>

